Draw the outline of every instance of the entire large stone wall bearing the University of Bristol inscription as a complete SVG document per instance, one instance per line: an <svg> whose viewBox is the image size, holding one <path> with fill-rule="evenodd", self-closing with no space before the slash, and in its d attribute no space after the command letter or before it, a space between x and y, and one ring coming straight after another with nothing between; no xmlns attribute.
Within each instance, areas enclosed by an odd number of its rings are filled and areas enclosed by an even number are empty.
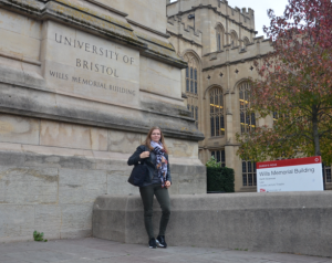
<svg viewBox="0 0 332 263"><path fill-rule="evenodd" d="M172 193L206 191L165 10L0 0L1 242L90 236L96 197L137 193L126 161L152 126L169 146Z"/></svg>

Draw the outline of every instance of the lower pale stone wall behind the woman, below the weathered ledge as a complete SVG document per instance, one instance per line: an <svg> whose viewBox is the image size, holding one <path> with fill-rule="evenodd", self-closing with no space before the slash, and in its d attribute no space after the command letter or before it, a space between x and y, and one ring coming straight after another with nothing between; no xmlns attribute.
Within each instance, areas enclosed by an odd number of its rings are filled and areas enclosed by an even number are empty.
<svg viewBox="0 0 332 263"><path fill-rule="evenodd" d="M91 236L101 194L138 194L127 159L145 134L0 115L0 242ZM172 194L206 192L198 146L166 138Z"/></svg>

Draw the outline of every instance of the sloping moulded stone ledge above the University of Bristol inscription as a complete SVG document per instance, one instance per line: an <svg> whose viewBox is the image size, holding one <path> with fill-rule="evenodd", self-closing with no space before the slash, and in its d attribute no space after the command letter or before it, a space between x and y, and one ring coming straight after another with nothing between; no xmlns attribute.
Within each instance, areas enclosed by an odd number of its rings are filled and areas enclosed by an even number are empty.
<svg viewBox="0 0 332 263"><path fill-rule="evenodd" d="M83 31L112 39L134 49L139 50L142 55L153 57L178 69L186 69L184 62L167 42L155 38L143 39L142 34L134 32L129 23L110 15L95 12L68 0L49 0L44 3L38 0L0 0L0 7L13 12L24 13L37 20L54 20L74 25ZM139 35L138 35L139 34Z"/></svg>

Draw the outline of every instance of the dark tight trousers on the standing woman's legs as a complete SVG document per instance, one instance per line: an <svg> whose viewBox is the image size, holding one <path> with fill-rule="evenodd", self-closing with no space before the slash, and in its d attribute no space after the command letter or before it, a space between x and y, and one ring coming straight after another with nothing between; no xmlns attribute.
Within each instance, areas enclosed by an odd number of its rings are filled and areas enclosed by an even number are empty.
<svg viewBox="0 0 332 263"><path fill-rule="evenodd" d="M154 235L154 225L153 225L153 203L154 196L156 196L160 208L162 208L162 218L159 224L159 235L165 235L167 223L170 214L170 202L167 188L162 188L160 183L151 185L147 187L139 188L141 198L144 206L144 223L147 235L149 239L155 238Z"/></svg>

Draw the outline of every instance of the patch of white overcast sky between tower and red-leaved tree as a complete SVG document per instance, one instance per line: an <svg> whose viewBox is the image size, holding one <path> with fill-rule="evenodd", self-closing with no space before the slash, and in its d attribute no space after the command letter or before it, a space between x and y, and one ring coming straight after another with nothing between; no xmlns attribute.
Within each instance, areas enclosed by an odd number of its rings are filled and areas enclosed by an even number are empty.
<svg viewBox="0 0 332 263"><path fill-rule="evenodd" d="M174 2L175 0L172 0ZM263 35L262 27L270 25L267 14L268 9L273 9L277 15L282 15L288 0L228 0L228 4L232 8L251 8L255 10L255 22L257 36Z"/></svg>

